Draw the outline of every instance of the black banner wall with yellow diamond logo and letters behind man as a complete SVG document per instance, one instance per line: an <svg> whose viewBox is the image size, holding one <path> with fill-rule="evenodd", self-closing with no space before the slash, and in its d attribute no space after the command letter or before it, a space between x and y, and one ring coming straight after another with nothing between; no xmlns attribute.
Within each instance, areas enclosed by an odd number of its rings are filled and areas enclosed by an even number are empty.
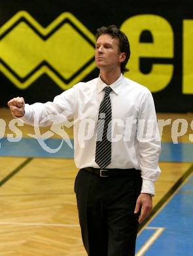
<svg viewBox="0 0 193 256"><path fill-rule="evenodd" d="M150 89L157 112L192 112L192 0L0 1L0 106L53 100L96 77L94 33L110 24L130 40L126 77Z"/></svg>

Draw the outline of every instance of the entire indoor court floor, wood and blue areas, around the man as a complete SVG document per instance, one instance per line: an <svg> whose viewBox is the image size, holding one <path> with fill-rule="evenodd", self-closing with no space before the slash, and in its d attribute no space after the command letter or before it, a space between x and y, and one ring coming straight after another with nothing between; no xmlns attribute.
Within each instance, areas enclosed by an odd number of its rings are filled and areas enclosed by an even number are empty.
<svg viewBox="0 0 193 256"><path fill-rule="evenodd" d="M139 226L137 256L192 255L192 117L158 114L158 119L171 119L171 125L163 129L162 174L156 182L152 214ZM60 151L50 154L29 135L35 134L33 127L11 131L12 119L7 108L0 109L0 255L86 256L74 193L78 169L73 149L63 142ZM186 119L188 126L183 136L174 138L171 131L177 119ZM49 127L41 128L43 137L48 137L46 131ZM73 144L72 128L65 131ZM16 140L15 133L21 137L17 142L11 141ZM173 143L175 139L178 143ZM61 137L54 135L44 142L57 148Z"/></svg>

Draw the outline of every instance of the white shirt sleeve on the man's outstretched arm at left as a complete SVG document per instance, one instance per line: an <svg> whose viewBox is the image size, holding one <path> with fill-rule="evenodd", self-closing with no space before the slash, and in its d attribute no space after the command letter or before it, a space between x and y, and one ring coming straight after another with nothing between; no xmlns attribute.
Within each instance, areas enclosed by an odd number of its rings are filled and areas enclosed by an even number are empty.
<svg viewBox="0 0 193 256"><path fill-rule="evenodd" d="M77 95L75 86L54 98L53 102L25 104L24 123L33 126L48 126L61 123L75 116Z"/></svg>

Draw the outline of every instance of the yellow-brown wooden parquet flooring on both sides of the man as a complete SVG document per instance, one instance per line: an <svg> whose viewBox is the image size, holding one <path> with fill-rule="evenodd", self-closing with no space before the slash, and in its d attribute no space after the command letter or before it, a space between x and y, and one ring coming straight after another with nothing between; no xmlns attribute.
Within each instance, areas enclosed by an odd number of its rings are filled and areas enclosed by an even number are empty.
<svg viewBox="0 0 193 256"><path fill-rule="evenodd" d="M7 123L7 136L11 117L6 109L1 109L0 113L0 118ZM192 114L158 114L158 119L167 118L186 118L190 126ZM28 125L21 129L24 136L32 131ZM72 130L69 134L73 136ZM162 140L171 141L171 125L164 128ZM188 132L179 141L188 142ZM0 255L86 256L73 192L78 171L74 161L33 158L26 163L26 160L0 157ZM156 182L154 205L191 165L160 163L162 175ZM14 170L18 171L16 175L3 181Z"/></svg>

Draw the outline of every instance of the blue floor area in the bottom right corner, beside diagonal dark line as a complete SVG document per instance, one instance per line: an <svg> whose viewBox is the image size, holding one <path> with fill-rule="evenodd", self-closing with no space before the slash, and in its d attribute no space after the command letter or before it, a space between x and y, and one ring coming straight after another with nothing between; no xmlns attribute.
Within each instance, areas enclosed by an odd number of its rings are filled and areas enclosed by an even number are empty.
<svg viewBox="0 0 193 256"><path fill-rule="evenodd" d="M156 215L148 227L165 228L149 247L146 256L193 255L193 177L181 187L167 205ZM145 229L137 238L138 251L155 230Z"/></svg>

